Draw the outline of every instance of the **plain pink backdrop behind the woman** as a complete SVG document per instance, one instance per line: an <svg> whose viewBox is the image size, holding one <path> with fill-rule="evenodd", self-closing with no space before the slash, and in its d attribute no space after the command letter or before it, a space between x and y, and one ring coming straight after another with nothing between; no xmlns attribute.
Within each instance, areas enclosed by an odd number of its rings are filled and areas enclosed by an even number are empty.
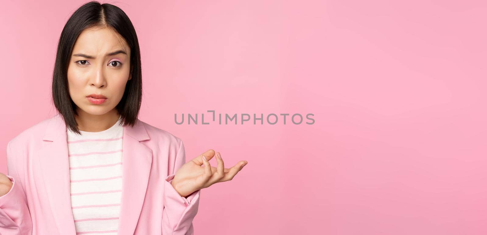
<svg viewBox="0 0 487 235"><path fill-rule="evenodd" d="M7 142L55 114L56 43L84 2L2 2L1 172ZM487 233L486 1L109 3L139 37L139 118L187 159L248 161L203 190L196 234ZM174 122L206 110L315 124Z"/></svg>

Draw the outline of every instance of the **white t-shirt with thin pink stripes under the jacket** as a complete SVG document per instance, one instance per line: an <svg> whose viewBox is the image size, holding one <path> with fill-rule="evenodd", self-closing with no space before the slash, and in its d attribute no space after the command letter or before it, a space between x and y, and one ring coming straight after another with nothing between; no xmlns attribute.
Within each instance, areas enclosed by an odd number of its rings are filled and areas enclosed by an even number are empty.
<svg viewBox="0 0 487 235"><path fill-rule="evenodd" d="M76 234L116 235L122 196L121 119L101 132L78 135L67 129L67 137Z"/></svg>

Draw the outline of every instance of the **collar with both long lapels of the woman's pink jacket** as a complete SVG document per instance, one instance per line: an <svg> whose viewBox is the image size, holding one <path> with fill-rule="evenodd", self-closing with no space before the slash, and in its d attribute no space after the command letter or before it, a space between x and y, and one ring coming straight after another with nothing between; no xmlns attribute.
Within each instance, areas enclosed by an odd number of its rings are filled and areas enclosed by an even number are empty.
<svg viewBox="0 0 487 235"><path fill-rule="evenodd" d="M64 119L59 114L51 117L38 154L59 234L75 235L66 131ZM133 235L142 210L152 164L152 150L141 141L149 139L149 134L139 119L133 127L124 127L119 235Z"/></svg>

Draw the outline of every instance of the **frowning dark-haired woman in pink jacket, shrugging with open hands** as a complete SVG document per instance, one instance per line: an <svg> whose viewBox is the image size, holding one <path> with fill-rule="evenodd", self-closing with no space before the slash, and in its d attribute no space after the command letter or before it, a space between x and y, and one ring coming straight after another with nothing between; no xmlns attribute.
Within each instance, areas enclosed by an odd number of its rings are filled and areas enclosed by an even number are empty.
<svg viewBox="0 0 487 235"><path fill-rule="evenodd" d="M127 15L96 1L77 9L57 48L58 114L7 145L1 235L194 233L200 190L233 179L247 161L224 168L208 150L186 163L180 138L137 118L141 79Z"/></svg>

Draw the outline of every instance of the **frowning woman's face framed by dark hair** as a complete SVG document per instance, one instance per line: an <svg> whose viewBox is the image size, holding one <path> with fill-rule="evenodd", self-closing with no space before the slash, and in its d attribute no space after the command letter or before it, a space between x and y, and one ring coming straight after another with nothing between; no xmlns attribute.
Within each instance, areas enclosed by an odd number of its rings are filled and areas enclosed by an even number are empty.
<svg viewBox="0 0 487 235"><path fill-rule="evenodd" d="M125 85L131 80L130 47L108 28L85 29L78 36L68 65L68 87L78 115L116 112ZM107 99L94 100L90 95ZM103 101L103 102L99 102Z"/></svg>

